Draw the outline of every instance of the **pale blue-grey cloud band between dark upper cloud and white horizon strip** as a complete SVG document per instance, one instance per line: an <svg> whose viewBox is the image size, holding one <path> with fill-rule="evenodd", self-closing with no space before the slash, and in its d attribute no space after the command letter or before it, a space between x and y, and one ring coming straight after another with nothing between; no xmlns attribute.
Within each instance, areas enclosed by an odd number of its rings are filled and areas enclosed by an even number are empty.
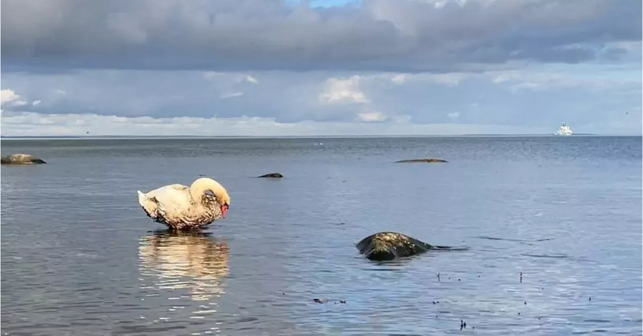
<svg viewBox="0 0 643 336"><path fill-rule="evenodd" d="M246 76L257 79L257 84L245 80ZM562 120L577 132L579 125L590 123L600 132L616 129L610 123L618 119L617 114L608 112L629 112L631 116L635 107L642 106L642 78L640 70L629 67L579 65L444 74L75 71L6 73L0 76L0 87L20 96L12 102L40 101L23 106L5 104L8 112L155 119L247 116L274 119L284 125L375 124L381 121L368 120L386 118L385 123L406 120L410 129L416 124L457 121L483 128L538 128L550 134ZM3 92L6 96L9 91ZM451 114L455 111L459 112L457 118ZM383 116L369 115L372 112ZM637 127L643 132L641 125Z"/></svg>

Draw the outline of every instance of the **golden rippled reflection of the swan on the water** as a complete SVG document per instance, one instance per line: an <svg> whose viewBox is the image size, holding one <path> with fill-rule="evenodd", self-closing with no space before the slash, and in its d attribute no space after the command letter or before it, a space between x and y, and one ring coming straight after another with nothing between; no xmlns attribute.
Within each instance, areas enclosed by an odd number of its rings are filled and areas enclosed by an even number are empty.
<svg viewBox="0 0 643 336"><path fill-rule="evenodd" d="M194 301L224 294L228 245L210 233L154 231L140 238L138 256L141 276L158 278L161 290L188 288Z"/></svg>

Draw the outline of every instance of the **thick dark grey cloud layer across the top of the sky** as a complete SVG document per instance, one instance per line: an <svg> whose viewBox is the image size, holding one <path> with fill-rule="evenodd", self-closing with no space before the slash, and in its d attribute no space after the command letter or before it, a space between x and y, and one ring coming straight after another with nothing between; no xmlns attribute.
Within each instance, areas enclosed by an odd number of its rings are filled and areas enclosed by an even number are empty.
<svg viewBox="0 0 643 336"><path fill-rule="evenodd" d="M440 71L586 62L640 40L640 0L0 0L0 66Z"/></svg>

